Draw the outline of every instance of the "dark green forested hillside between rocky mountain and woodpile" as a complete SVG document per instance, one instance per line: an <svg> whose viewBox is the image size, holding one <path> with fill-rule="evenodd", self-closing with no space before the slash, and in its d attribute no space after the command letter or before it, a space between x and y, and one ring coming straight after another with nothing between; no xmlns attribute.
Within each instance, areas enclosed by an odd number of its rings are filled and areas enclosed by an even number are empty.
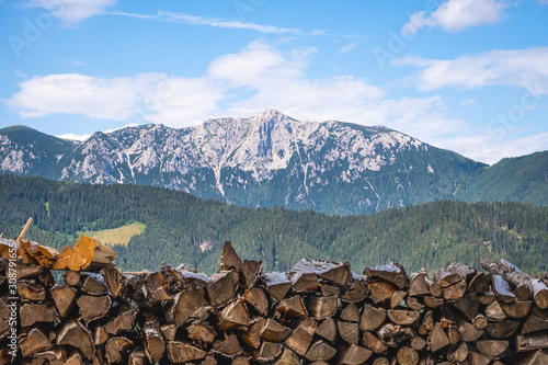
<svg viewBox="0 0 548 365"><path fill-rule="evenodd" d="M436 202L370 216L338 217L312 210L252 209L137 185L87 185L0 175L0 232L60 248L78 231L146 225L116 247L123 270L158 270L162 261L203 272L218 267L222 243L242 256L283 271L301 258L350 261L354 270L398 261L408 270L482 258L505 258L524 270L547 271L548 208L516 203ZM199 244L210 243L202 252ZM203 244L206 247L207 244Z"/></svg>

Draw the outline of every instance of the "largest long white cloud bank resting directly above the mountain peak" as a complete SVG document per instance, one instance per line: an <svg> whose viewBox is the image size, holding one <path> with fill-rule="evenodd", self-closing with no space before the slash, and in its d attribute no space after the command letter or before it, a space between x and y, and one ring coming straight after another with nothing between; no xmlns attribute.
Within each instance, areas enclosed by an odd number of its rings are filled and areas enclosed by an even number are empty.
<svg viewBox="0 0 548 365"><path fill-rule="evenodd" d="M20 91L4 103L21 117L68 113L171 127L217 116L250 116L270 107L304 121L386 125L421 139L464 127L463 121L447 116L441 96L390 100L383 88L364 78L307 77L316 52L306 47L282 52L254 42L239 53L217 57L199 78L34 77L20 82Z"/></svg>

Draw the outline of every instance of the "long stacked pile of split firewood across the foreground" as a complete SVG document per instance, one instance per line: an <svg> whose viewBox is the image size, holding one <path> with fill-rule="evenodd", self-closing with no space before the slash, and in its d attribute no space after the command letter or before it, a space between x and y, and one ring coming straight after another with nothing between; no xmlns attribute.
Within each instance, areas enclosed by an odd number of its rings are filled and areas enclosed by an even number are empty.
<svg viewBox="0 0 548 365"><path fill-rule="evenodd" d="M548 364L546 282L505 261L432 277L307 259L263 273L226 242L208 277L169 264L122 273L83 237L60 253L0 239L0 253L3 319L18 297L15 329L0 322L0 364Z"/></svg>

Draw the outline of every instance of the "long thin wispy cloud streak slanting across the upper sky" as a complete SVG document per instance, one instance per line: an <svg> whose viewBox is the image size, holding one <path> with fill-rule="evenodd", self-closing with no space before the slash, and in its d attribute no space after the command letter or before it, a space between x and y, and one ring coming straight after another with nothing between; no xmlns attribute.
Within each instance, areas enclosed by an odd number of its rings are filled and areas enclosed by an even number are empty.
<svg viewBox="0 0 548 365"><path fill-rule="evenodd" d="M129 16L137 19L149 19L160 22L173 22L183 23L190 25L206 25L220 28L229 30L248 30L255 31L260 33L271 33L271 34L300 34L302 33L299 28L294 27L279 27L274 25L262 25L249 22L220 20L207 16L190 15L186 13L178 13L170 11L158 11L156 14L139 14L139 13L127 13L121 11L110 12L111 15ZM322 31L318 31L322 32Z"/></svg>

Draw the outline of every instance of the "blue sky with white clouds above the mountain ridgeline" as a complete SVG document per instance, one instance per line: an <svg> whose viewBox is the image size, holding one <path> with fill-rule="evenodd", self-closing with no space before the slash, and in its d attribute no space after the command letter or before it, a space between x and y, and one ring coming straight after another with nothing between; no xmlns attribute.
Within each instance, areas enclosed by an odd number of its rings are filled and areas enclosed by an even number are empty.
<svg viewBox="0 0 548 365"><path fill-rule="evenodd" d="M0 0L0 127L276 109L469 158L548 149L548 0Z"/></svg>

